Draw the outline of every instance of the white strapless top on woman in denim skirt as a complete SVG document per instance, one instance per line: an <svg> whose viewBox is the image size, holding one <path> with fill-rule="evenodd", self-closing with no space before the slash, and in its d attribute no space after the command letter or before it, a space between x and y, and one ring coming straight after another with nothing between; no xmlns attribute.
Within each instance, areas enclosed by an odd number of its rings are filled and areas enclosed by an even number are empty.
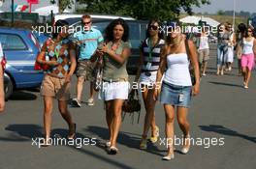
<svg viewBox="0 0 256 169"><path fill-rule="evenodd" d="M167 65L164 81L177 86L192 86L186 53L168 55Z"/></svg>

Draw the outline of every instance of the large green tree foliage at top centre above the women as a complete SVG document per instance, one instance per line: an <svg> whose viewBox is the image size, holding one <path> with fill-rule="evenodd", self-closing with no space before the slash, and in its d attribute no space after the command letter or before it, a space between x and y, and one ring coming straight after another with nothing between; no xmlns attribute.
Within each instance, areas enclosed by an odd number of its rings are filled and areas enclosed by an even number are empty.
<svg viewBox="0 0 256 169"><path fill-rule="evenodd" d="M139 19L176 19L180 12L193 14L193 6L209 4L209 0L80 0L87 4L82 13L131 15Z"/></svg>

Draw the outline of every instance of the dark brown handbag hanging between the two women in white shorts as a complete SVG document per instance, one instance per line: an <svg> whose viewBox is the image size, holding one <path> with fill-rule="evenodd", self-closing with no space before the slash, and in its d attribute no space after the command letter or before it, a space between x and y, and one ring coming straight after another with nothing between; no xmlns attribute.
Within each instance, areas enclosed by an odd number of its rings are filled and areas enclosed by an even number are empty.
<svg viewBox="0 0 256 169"><path fill-rule="evenodd" d="M131 92L129 93L128 99L126 99L123 102L122 105L122 121L125 118L125 115L129 113L129 115L132 117L132 124L134 123L134 115L137 112L138 113L138 120L137 123L139 124L140 122L140 116L141 116L141 100L139 98L139 92L138 89L132 89Z"/></svg>

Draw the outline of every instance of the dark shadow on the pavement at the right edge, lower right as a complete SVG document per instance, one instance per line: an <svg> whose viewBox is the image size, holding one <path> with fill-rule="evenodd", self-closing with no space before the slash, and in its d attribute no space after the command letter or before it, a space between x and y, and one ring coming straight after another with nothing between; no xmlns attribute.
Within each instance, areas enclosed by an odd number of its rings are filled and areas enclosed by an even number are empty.
<svg viewBox="0 0 256 169"><path fill-rule="evenodd" d="M245 140L256 143L256 137L251 137L245 134L241 134L238 131L232 130L227 127L219 126L219 125L209 125L209 126L199 126L204 131L216 132L224 135L230 135L235 137L240 137Z"/></svg>

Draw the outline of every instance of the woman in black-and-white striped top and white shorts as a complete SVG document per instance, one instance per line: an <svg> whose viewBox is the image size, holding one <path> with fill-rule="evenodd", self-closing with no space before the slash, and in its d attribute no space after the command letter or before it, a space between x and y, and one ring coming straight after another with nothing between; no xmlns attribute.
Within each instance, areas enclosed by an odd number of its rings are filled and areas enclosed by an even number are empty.
<svg viewBox="0 0 256 169"><path fill-rule="evenodd" d="M160 49L165 41L160 33L159 20L150 20L147 24L146 39L141 46L140 64L138 67L135 82L139 81L142 85L142 94L146 114L144 116L144 132L140 143L140 149L146 149L147 132L151 127L150 141L157 142L159 136L159 127L155 124L155 103L153 99L153 84L156 80L156 73L160 64Z"/></svg>

